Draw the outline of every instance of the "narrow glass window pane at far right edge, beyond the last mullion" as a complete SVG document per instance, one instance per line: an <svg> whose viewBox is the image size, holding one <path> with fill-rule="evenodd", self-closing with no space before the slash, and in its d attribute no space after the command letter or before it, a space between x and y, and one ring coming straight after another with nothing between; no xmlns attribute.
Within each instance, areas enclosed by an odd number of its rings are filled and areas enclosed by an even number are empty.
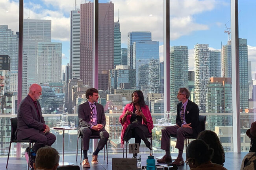
<svg viewBox="0 0 256 170"><path fill-rule="evenodd" d="M240 85L240 117L241 152L249 152L250 139L246 131L256 121L256 34L254 21L250 16L256 15L254 1L238 0L239 22L239 85Z"/></svg>

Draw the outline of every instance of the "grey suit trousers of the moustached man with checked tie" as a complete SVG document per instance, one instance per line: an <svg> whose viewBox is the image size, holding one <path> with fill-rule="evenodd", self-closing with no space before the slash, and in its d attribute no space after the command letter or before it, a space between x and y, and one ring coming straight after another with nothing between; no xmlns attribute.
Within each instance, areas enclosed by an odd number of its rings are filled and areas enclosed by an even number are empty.
<svg viewBox="0 0 256 170"><path fill-rule="evenodd" d="M97 148L99 150L102 150L104 148L109 138L109 133L104 128L100 131L95 131L87 127L81 127L81 128L82 128L81 133L83 135L82 150L89 150L89 141L90 141L89 137L91 135L98 135L100 137L100 141L98 142Z"/></svg>

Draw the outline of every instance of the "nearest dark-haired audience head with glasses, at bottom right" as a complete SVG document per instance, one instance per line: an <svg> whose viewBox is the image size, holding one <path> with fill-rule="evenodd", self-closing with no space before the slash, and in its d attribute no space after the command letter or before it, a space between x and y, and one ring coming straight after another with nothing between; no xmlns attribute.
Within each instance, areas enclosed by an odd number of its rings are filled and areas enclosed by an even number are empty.
<svg viewBox="0 0 256 170"><path fill-rule="evenodd" d="M211 161L213 152L213 149L209 148L204 141L200 139L191 141L186 150L186 163L190 168L195 168L203 163Z"/></svg>

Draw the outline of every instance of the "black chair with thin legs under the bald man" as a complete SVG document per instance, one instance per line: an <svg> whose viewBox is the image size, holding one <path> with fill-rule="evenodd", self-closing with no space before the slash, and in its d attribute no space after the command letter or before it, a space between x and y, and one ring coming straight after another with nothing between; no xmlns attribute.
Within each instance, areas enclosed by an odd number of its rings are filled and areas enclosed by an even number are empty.
<svg viewBox="0 0 256 170"><path fill-rule="evenodd" d="M7 157L7 163L6 163L6 168L8 166L8 161L9 161L9 155L10 155L10 150L11 150L11 143L29 143L29 149L28 149L28 170L30 168L30 149L31 149L31 144L35 143L35 141L30 140L30 139L23 139L23 140L18 140L17 136L15 134L17 130L17 123L18 123L18 118L11 118L11 139L10 139L10 146L9 146L9 152L8 152L8 157Z"/></svg>

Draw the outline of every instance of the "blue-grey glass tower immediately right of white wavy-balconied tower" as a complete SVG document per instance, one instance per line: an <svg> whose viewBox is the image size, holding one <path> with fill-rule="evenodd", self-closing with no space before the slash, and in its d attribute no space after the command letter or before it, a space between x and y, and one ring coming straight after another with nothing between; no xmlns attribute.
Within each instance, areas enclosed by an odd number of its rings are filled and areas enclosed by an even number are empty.
<svg viewBox="0 0 256 170"><path fill-rule="evenodd" d="M221 77L221 51L209 50L210 77Z"/></svg>

